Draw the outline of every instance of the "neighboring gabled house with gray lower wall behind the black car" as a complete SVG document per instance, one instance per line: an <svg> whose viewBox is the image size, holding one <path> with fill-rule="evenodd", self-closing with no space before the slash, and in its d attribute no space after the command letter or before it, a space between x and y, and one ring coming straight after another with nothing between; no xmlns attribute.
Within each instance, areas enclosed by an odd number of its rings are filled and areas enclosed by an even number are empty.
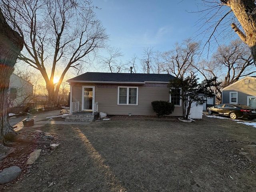
<svg viewBox="0 0 256 192"><path fill-rule="evenodd" d="M223 88L222 103L256 107L256 77L246 76Z"/></svg>

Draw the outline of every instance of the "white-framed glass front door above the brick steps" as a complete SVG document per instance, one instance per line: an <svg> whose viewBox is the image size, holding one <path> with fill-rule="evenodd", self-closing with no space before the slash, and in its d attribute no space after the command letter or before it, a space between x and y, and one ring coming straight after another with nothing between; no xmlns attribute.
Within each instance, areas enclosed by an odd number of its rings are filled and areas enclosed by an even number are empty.
<svg viewBox="0 0 256 192"><path fill-rule="evenodd" d="M82 110L92 111L94 105L94 86L82 86Z"/></svg>

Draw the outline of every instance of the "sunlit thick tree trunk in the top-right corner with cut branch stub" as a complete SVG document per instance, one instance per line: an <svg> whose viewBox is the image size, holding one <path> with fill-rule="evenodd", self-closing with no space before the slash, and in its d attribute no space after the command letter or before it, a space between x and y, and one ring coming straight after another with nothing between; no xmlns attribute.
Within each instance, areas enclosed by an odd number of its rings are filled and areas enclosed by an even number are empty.
<svg viewBox="0 0 256 192"><path fill-rule="evenodd" d="M239 37L250 47L256 66L256 5L254 0L221 0L231 8L244 32L235 23L231 27Z"/></svg>

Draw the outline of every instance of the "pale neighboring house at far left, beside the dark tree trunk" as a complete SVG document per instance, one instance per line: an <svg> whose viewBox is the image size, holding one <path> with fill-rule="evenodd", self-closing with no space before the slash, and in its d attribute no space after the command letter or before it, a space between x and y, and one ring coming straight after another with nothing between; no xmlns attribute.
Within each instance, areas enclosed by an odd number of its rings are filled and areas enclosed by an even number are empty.
<svg viewBox="0 0 256 192"><path fill-rule="evenodd" d="M33 85L12 73L10 76L8 102L10 107L26 106L33 95Z"/></svg>

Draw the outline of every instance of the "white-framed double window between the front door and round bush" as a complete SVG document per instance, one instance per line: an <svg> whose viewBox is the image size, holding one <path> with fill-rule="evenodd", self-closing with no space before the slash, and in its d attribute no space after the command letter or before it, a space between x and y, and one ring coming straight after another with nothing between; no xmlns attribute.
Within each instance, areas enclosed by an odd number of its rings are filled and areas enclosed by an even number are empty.
<svg viewBox="0 0 256 192"><path fill-rule="evenodd" d="M138 105L138 87L118 87L119 105Z"/></svg>

